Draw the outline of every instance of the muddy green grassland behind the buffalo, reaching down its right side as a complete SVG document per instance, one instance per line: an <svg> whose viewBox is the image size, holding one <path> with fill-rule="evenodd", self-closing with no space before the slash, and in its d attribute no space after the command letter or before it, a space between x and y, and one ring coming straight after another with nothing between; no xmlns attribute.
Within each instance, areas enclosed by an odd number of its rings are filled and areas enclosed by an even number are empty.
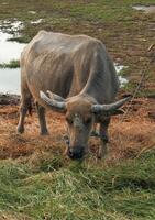
<svg viewBox="0 0 155 220"><path fill-rule="evenodd" d="M35 0L5 0L0 7L0 20L23 22L21 36L14 36L19 42L30 42L42 29L100 38L114 62L129 67L125 74L130 76L130 84L124 89L132 92L152 55L147 48L155 41L155 14L135 11L132 6L153 3L154 0L40 0L37 3ZM40 19L42 22L37 23ZM141 96L155 92L154 65L145 72L147 80Z"/></svg>

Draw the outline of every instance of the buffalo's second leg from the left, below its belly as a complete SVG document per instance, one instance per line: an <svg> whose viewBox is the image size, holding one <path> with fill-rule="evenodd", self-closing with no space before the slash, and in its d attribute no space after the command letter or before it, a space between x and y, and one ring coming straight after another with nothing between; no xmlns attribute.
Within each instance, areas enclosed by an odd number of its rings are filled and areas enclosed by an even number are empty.
<svg viewBox="0 0 155 220"><path fill-rule="evenodd" d="M41 105L38 105L38 102L36 102L36 111L37 111L37 114L38 114L41 134L46 135L46 134L48 134L48 130L47 130L47 127L46 127L45 108L42 107Z"/></svg>

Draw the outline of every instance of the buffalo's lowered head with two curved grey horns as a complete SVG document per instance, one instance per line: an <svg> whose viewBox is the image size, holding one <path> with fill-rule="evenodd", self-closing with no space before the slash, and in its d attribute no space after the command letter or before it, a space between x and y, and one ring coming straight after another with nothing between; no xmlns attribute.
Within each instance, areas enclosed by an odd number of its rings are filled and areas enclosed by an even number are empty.
<svg viewBox="0 0 155 220"><path fill-rule="evenodd" d="M47 95L41 91L40 96L49 107L65 113L69 136L69 145L66 152L73 160L82 158L87 153L87 142L96 116L114 114L115 111L129 100L128 97L110 105L99 105L88 95L78 95L64 99L51 91L47 91Z"/></svg>

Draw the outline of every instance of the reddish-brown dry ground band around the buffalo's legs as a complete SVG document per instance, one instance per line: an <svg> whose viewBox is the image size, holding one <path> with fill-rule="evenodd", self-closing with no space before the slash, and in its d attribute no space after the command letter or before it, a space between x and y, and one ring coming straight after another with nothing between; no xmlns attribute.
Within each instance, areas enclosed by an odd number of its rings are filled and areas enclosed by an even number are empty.
<svg viewBox="0 0 155 220"><path fill-rule="evenodd" d="M64 116L47 112L49 135L41 136L34 109L33 114L26 117L25 133L18 134L15 129L19 120L19 100L12 100L9 105L0 106L0 158L29 156L37 151L63 155L65 150L63 136L66 134ZM112 118L107 157L109 162L136 157L144 150L155 145L155 99L136 98L129 105L124 107L124 111L129 108L126 116ZM98 145L99 139L90 138L91 156L96 156Z"/></svg>

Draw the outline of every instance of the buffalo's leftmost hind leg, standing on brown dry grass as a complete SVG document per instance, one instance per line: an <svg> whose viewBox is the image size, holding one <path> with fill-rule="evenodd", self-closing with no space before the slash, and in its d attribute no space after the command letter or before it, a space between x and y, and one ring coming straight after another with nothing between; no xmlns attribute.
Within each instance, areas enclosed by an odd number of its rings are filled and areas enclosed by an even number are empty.
<svg viewBox="0 0 155 220"><path fill-rule="evenodd" d="M25 119L27 110L31 111L31 109L32 109L32 107L31 107L32 96L29 91L26 91L25 94L26 95L23 95L22 99L21 99L20 120L19 120L19 124L18 124L18 129L16 129L19 133L24 132L24 119Z"/></svg>

